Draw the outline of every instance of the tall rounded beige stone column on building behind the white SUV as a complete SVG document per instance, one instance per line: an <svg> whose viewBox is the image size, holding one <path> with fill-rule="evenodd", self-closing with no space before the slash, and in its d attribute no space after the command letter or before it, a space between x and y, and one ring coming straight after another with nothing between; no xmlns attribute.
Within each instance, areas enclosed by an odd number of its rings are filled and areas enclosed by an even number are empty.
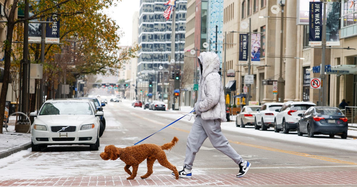
<svg viewBox="0 0 357 187"><path fill-rule="evenodd" d="M296 17L296 3L297 1L287 1L286 2L286 17ZM296 72L297 72L297 60L296 57L296 46L297 46L297 26L296 20L286 19L286 27L284 27L285 38L286 38L286 53L284 56L291 57L286 58L285 63L285 99L295 100L296 98ZM300 68L300 67L299 67Z"/></svg>

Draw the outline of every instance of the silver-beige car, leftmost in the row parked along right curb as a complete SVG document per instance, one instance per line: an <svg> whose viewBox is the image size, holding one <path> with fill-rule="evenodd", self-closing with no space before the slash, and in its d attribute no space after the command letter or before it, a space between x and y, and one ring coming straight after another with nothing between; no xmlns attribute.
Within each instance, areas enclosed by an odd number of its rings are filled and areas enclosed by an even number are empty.
<svg viewBox="0 0 357 187"><path fill-rule="evenodd" d="M255 114L262 108L261 105L247 105L237 112L236 126L244 128L246 125L254 125Z"/></svg>

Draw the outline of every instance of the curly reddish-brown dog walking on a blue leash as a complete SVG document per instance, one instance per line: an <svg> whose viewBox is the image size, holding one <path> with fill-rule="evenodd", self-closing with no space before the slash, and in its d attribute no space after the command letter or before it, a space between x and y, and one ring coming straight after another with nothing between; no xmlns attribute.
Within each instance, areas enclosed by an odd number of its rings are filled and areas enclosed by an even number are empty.
<svg viewBox="0 0 357 187"><path fill-rule="evenodd" d="M119 158L125 162L124 170L130 175L127 180L133 180L136 177L137 168L139 164L146 159L147 161L147 173L141 176L142 179L149 177L152 174L152 166L155 160L159 161L161 166L167 167L175 173L176 179L178 179L178 172L174 165L167 161L164 150L170 150L175 146L178 138L175 136L171 142L162 146L156 144L141 144L125 148L115 147L114 145L107 145L104 148L104 152L100 154L103 160L116 160ZM129 170L129 167L133 168L133 172Z"/></svg>

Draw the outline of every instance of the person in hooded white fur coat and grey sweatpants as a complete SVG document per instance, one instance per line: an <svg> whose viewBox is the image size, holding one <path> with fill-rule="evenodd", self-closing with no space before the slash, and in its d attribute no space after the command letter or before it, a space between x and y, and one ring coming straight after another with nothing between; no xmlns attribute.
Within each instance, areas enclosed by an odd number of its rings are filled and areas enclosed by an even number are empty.
<svg viewBox="0 0 357 187"><path fill-rule="evenodd" d="M230 157L239 167L237 177L243 177L251 163L243 158L228 143L221 131L221 122L226 119L225 95L218 73L220 60L216 53L202 52L198 57L200 64L200 79L198 82L198 98L195 104L195 122L187 137L186 157L183 170L178 172L180 178L192 177L192 166L196 153L203 142L211 141L213 147ZM172 175L175 175L172 173Z"/></svg>

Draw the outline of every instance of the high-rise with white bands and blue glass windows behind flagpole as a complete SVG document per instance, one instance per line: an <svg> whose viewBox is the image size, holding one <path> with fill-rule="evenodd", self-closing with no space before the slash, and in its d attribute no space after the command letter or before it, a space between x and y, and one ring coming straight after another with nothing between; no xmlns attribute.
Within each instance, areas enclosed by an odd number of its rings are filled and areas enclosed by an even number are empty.
<svg viewBox="0 0 357 187"><path fill-rule="evenodd" d="M172 40L172 12L166 21L162 15L166 10L167 0L140 0L139 51L137 74L149 74L146 79L159 77L158 71L163 72L164 82L169 80ZM183 63L183 48L185 46L187 0L176 1L175 20L175 63ZM162 66L163 69L159 69ZM159 81L160 82L160 81Z"/></svg>

